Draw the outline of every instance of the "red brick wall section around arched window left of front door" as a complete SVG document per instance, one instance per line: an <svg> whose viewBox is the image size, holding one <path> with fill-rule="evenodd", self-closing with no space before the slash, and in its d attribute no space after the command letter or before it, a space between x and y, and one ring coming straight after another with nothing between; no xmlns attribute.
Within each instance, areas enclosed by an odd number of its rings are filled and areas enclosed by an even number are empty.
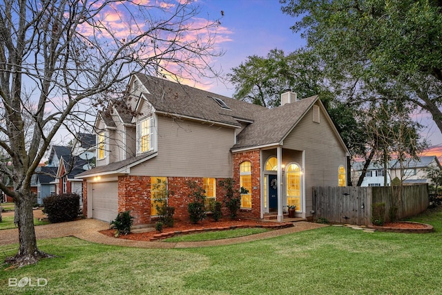
<svg viewBox="0 0 442 295"><path fill-rule="evenodd" d="M240 189L240 164L251 162L251 209L241 209L238 216L242 218L261 218L261 168L260 151L244 151L233 153L233 180Z"/></svg>

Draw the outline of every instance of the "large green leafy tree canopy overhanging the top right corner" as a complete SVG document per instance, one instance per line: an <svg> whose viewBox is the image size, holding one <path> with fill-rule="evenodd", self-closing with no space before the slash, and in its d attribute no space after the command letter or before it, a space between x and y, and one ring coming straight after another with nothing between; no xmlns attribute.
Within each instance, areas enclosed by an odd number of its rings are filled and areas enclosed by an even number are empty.
<svg viewBox="0 0 442 295"><path fill-rule="evenodd" d="M302 31L349 99L367 99L367 91L377 100L398 99L428 111L442 132L441 1L280 3L299 18L291 28Z"/></svg>

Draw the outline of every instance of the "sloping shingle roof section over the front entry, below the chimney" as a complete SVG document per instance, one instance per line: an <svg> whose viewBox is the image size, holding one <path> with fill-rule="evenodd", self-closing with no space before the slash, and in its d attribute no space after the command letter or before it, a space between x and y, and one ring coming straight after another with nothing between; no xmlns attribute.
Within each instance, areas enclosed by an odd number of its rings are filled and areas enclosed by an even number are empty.
<svg viewBox="0 0 442 295"><path fill-rule="evenodd" d="M255 122L238 134L238 142L233 149L280 142L317 100L316 95L257 113Z"/></svg>

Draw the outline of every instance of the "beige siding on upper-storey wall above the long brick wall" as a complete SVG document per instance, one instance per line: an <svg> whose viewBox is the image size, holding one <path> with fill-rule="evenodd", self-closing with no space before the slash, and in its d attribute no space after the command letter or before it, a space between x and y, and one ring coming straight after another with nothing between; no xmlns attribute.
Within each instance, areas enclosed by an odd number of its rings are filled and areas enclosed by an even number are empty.
<svg viewBox="0 0 442 295"><path fill-rule="evenodd" d="M233 134L233 128L157 115L157 156L131 175L232 177Z"/></svg>

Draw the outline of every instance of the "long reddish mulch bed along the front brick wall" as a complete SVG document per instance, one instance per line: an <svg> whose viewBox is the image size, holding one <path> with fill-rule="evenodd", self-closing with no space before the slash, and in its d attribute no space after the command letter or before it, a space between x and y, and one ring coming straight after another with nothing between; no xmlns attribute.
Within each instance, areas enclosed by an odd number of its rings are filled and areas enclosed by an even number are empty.
<svg viewBox="0 0 442 295"><path fill-rule="evenodd" d="M183 221L183 220L175 220L175 223L173 227L165 227L163 228L162 233L160 231L156 231L155 228L153 228L153 231L147 231L142 233L131 233L126 236L122 235L118 238L124 238L128 240L144 240L144 241L152 241L152 240L158 240L155 235L163 234L166 236L166 234L170 234L170 236L173 236L173 234L193 234L197 232L202 231L211 231L211 230L224 230L224 229L234 229L234 228L245 228L245 227L268 227L271 229L272 227L280 227L284 226L286 224L280 223L280 222L269 222L269 221L262 221L262 220L250 220L250 219L236 219L236 220L230 220L230 219L222 219L218 221L213 220L204 220L202 223L198 222L197 224L193 224L190 221ZM293 224L291 224L293 226ZM285 226L287 227L287 225ZM106 229L104 231L99 231L100 233L115 237L115 229Z"/></svg>

